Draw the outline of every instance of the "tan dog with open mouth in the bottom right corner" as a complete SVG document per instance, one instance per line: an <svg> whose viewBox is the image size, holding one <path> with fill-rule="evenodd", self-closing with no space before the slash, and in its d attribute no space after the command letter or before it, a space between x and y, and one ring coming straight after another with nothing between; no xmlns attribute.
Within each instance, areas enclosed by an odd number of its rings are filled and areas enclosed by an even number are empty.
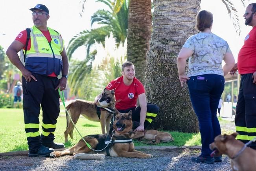
<svg viewBox="0 0 256 171"><path fill-rule="evenodd" d="M238 133L218 135L210 144L211 156L226 154L231 159L233 171L256 171L256 150L236 140Z"/></svg>

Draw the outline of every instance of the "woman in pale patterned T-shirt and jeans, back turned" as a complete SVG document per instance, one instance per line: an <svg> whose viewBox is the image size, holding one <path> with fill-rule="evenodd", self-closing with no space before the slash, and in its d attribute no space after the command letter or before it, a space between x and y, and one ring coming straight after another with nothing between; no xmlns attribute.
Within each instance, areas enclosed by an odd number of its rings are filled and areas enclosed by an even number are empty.
<svg viewBox="0 0 256 171"><path fill-rule="evenodd" d="M209 144L221 134L216 116L219 99L224 90L225 79L235 64L228 43L211 32L213 16L209 11L200 11L196 28L200 31L186 40L177 58L181 86L188 83L190 99L199 121L202 151L194 162L213 164L221 162L221 157L212 158ZM188 74L185 74L186 60L189 58ZM222 60L225 65L221 66Z"/></svg>

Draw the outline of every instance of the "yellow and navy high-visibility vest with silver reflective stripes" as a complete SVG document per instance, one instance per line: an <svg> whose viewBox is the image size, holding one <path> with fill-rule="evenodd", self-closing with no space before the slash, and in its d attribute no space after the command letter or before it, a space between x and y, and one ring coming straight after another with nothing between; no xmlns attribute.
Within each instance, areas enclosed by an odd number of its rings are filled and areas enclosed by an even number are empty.
<svg viewBox="0 0 256 171"><path fill-rule="evenodd" d="M37 27L31 28L31 48L27 50L25 68L36 74L49 75L55 72L59 75L63 67L61 52L64 41L57 31L51 28L48 31L52 38L50 43Z"/></svg>

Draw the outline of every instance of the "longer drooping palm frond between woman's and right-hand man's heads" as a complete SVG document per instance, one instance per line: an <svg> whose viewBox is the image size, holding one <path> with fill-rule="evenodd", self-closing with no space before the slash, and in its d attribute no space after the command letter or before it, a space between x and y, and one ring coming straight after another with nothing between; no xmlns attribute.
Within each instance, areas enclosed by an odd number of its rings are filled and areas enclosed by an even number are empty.
<svg viewBox="0 0 256 171"><path fill-rule="evenodd" d="M238 11L236 10L234 4L230 0L222 0L222 2L225 4L228 11L228 15L232 19L232 23L234 25L234 28L236 29L236 33L240 35L241 26L239 24Z"/></svg>

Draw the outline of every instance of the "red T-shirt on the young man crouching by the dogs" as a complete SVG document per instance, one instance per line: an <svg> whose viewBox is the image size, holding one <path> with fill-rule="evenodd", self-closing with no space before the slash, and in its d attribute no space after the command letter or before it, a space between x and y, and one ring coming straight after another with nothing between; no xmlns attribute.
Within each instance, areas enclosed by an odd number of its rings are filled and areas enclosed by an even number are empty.
<svg viewBox="0 0 256 171"><path fill-rule="evenodd" d="M129 86L123 83L123 76L112 80L106 87L108 90L115 90L116 100L121 99L116 103L118 110L126 110L128 108L136 107L138 95L145 93L144 86L138 79L133 78L133 83Z"/></svg>

